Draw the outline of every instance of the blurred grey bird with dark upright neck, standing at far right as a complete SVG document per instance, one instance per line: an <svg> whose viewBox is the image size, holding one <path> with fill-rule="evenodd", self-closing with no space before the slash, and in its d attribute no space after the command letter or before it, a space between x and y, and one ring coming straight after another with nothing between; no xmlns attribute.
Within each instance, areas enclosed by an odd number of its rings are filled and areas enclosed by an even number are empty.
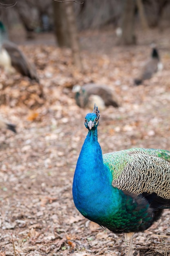
<svg viewBox="0 0 170 256"><path fill-rule="evenodd" d="M144 80L150 79L154 73L162 70L163 68L156 46L152 44L151 47L152 52L150 59L144 64L143 67L141 67L137 78L134 79L135 85L140 85Z"/></svg>

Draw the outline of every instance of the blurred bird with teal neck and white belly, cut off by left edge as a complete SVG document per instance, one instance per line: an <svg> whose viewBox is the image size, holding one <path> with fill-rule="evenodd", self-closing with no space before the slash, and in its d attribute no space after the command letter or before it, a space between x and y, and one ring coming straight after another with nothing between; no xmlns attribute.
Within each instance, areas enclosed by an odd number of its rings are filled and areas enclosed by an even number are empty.
<svg viewBox="0 0 170 256"><path fill-rule="evenodd" d="M7 38L7 31L0 21L0 66L9 74L17 71L39 83L38 74L33 63L30 63L18 46Z"/></svg>

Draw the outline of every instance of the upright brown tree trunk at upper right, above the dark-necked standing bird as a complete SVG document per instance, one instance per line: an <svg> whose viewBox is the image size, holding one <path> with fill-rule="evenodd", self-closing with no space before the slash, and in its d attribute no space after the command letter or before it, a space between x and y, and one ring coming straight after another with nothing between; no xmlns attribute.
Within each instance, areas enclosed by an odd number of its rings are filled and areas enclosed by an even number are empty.
<svg viewBox="0 0 170 256"><path fill-rule="evenodd" d="M134 0L124 0L124 9L122 13L122 36L121 45L132 45L136 43L134 34L135 2Z"/></svg>

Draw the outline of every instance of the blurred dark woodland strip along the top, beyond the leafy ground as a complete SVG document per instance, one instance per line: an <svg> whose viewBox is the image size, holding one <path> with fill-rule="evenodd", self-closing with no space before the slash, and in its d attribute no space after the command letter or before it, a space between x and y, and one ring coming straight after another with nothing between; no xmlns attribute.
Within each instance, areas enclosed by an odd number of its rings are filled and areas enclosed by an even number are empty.
<svg viewBox="0 0 170 256"><path fill-rule="evenodd" d="M40 33L51 32L58 38L59 46L64 45L60 42L58 31L64 30L64 27L66 29L66 9L69 5L73 7L72 15L78 31L104 28L112 28L115 31L118 27L124 31L124 27L132 26L133 29L131 29L130 34L135 35L133 30L137 29L139 25L140 29L154 29L157 27L160 31L169 27L170 2L168 0L104 0L102 2L99 0L85 0L73 2L61 5L60 2L49 0L38 0L36 2L33 0L17 2L2 0L1 20L7 26L9 36L13 40L17 41L18 35L21 42L26 38L33 39ZM3 4L9 5L5 6ZM127 16L126 22L124 22L124 16ZM126 42L126 40L124 43L135 43L135 41L130 42L129 40L129 42ZM47 42L50 43L50 40L47 40Z"/></svg>

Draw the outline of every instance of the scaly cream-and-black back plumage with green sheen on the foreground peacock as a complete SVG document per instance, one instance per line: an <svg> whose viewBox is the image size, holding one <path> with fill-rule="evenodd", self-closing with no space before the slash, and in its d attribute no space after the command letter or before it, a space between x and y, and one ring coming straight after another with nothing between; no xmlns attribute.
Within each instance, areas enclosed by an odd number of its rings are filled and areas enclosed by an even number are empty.
<svg viewBox="0 0 170 256"><path fill-rule="evenodd" d="M136 195L157 193L170 199L169 151L131 148L104 154L103 161L112 172L114 187Z"/></svg>

